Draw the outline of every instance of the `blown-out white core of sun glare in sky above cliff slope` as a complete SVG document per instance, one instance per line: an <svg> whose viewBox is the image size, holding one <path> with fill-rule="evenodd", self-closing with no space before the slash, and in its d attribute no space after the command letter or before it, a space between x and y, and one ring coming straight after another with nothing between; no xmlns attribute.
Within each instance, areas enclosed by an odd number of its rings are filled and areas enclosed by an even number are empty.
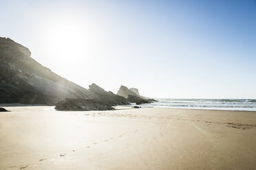
<svg viewBox="0 0 256 170"><path fill-rule="evenodd" d="M47 36L47 51L50 52L52 62L60 63L60 72L92 69L95 58L97 41L96 32L92 23L86 19L65 18L54 20L47 25L45 32ZM72 58L72 60L70 60ZM66 73L65 73L66 75Z"/></svg>

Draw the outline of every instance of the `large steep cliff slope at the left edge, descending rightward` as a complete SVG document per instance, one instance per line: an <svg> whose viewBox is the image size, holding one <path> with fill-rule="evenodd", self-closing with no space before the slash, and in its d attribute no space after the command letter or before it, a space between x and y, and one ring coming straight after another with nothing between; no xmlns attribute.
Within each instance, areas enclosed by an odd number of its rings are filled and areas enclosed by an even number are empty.
<svg viewBox="0 0 256 170"><path fill-rule="evenodd" d="M91 91L56 75L30 50L0 37L0 103L54 105L65 98L93 99Z"/></svg>

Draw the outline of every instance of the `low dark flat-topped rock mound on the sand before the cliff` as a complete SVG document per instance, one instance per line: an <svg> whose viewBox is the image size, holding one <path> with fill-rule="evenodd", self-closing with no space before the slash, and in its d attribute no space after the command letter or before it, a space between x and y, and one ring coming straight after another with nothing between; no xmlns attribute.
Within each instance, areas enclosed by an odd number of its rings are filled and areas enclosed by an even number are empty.
<svg viewBox="0 0 256 170"><path fill-rule="evenodd" d="M63 111L114 110L111 105L96 99L64 99L56 104L55 109Z"/></svg>

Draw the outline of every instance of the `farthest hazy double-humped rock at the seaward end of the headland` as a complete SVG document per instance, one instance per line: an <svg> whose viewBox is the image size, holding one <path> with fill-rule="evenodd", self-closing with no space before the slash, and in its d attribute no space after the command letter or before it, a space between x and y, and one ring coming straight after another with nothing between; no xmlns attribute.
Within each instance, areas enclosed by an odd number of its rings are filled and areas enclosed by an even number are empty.
<svg viewBox="0 0 256 170"><path fill-rule="evenodd" d="M127 88L126 86L120 86L117 95L125 97L129 102L136 104L150 104L155 99L141 96L137 88Z"/></svg>

